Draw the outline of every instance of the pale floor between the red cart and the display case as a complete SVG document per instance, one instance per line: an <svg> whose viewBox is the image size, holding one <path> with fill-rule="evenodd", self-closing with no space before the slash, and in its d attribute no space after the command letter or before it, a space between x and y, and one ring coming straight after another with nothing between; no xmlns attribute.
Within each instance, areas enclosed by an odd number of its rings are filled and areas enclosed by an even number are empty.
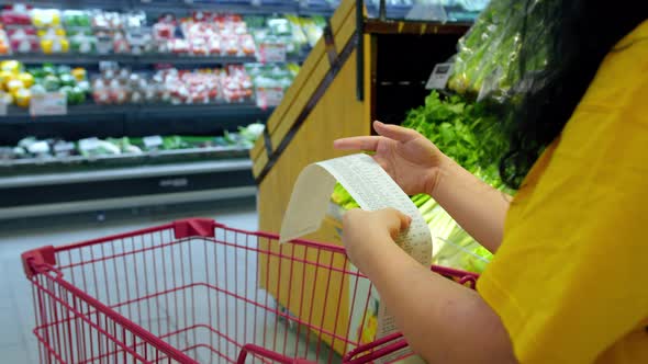
<svg viewBox="0 0 648 364"><path fill-rule="evenodd" d="M42 246L67 244L91 238L126 232L168 223L174 219L202 216L215 218L227 226L256 230L254 202L237 207L227 206L200 213L177 213L139 217L129 221L103 221L74 227L42 227L2 229L0 231L0 362L37 363L32 291L20 261L25 250Z"/></svg>

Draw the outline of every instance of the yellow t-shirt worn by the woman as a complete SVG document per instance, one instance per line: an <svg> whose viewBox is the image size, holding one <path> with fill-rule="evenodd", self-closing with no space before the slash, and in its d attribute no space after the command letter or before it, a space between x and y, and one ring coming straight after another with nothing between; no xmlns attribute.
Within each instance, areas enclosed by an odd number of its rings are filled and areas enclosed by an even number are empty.
<svg viewBox="0 0 648 364"><path fill-rule="evenodd" d="M648 21L603 62L478 282L522 364L648 363Z"/></svg>

